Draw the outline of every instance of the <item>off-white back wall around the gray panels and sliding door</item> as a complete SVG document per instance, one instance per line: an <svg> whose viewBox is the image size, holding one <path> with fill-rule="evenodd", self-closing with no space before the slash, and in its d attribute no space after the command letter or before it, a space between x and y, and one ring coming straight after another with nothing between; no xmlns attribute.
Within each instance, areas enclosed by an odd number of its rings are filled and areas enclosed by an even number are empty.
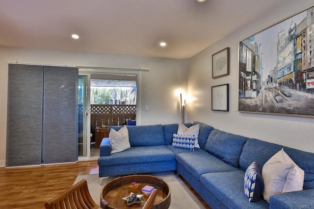
<svg viewBox="0 0 314 209"><path fill-rule="evenodd" d="M141 72L141 124L181 121L180 100L176 92L187 89L186 59L0 47L0 166L5 165L6 151L7 61L150 69ZM148 112L144 111L145 105L149 106Z"/></svg>

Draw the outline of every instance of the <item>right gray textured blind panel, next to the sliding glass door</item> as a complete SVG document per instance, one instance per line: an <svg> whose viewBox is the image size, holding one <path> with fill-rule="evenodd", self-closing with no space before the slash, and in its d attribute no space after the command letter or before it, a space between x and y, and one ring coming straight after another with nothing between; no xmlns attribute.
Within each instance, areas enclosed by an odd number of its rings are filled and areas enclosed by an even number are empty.
<svg viewBox="0 0 314 209"><path fill-rule="evenodd" d="M42 163L77 160L78 69L44 67Z"/></svg>

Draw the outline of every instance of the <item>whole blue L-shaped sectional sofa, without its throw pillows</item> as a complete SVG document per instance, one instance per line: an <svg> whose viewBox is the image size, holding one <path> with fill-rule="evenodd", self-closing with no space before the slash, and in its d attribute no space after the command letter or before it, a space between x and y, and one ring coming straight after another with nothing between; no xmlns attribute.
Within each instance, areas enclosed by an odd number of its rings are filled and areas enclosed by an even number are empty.
<svg viewBox="0 0 314 209"><path fill-rule="evenodd" d="M172 147L178 124L128 126L131 148L114 154L110 154L109 138L104 138L99 176L176 170L212 209L314 209L314 153L226 133L202 122L184 125L196 124L200 148L194 151ZM248 202L244 194L247 167L252 162L262 167L281 148L304 170L303 190L273 195L270 203L262 198Z"/></svg>

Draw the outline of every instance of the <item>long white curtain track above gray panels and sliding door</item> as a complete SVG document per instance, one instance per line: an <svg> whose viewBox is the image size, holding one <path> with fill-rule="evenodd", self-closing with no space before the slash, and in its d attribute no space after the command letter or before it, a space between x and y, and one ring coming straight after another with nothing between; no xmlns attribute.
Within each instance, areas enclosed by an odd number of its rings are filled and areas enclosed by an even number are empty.
<svg viewBox="0 0 314 209"><path fill-rule="evenodd" d="M99 69L99 70L136 70L136 71L149 71L147 68L126 68L126 67L105 67L105 66L78 66L68 64L48 64L48 63L31 63L31 62L18 62L8 61L8 64L27 64L27 65L43 65L43 66L60 66L60 67L74 67L81 69Z"/></svg>

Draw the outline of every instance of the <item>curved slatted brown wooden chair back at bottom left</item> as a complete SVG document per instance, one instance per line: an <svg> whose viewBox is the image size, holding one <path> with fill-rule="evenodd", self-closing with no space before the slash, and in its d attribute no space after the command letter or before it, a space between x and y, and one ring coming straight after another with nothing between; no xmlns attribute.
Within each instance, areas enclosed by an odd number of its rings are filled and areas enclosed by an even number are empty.
<svg viewBox="0 0 314 209"><path fill-rule="evenodd" d="M101 209L92 199L85 179L45 203L46 209Z"/></svg>

